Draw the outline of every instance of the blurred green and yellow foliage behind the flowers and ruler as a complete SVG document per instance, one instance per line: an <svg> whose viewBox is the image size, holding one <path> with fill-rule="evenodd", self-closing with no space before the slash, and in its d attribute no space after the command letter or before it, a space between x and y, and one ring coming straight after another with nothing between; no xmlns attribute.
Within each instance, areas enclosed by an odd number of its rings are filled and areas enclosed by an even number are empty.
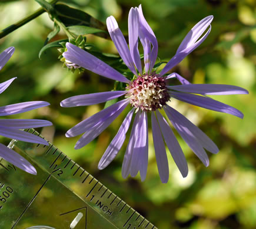
<svg viewBox="0 0 256 229"><path fill-rule="evenodd" d="M63 1L105 23L109 15L117 18L127 35L128 12L142 4L144 16L159 43L159 58L168 61L185 34L207 15L214 15L212 30L202 45L185 58L173 71L193 83L221 83L246 88L249 95L215 96L221 102L235 106L244 119L212 112L172 99L170 105L197 124L218 145L220 153L210 155L210 166L203 164L178 137L189 164L188 177L182 179L168 153L170 179L162 184L157 171L152 136L149 133L149 164L147 179L139 176L121 177L125 147L117 158L99 171L97 163L111 139L117 133L125 112L96 140L80 150L74 150L78 137L67 139L65 132L101 110L104 105L63 108L61 100L85 93L112 90L114 82L87 70L72 73L62 68L58 51L48 49L38 59L39 50L53 23L47 14L0 40L1 51L15 46L11 60L1 70L1 82L17 76L0 96L0 104L45 100L49 107L15 115L19 118L48 119L54 127L43 129L46 139L77 161L89 173L104 183L129 205L148 218L158 228L231 229L256 228L256 28L253 0L72 0ZM36 2L5 1L1 3L1 28L19 21L39 8ZM67 39L64 32L52 41ZM105 53L117 54L114 44L95 35L87 35ZM139 47L141 49L141 47ZM5 143L8 140L1 138ZM128 138L125 142L127 144Z"/></svg>

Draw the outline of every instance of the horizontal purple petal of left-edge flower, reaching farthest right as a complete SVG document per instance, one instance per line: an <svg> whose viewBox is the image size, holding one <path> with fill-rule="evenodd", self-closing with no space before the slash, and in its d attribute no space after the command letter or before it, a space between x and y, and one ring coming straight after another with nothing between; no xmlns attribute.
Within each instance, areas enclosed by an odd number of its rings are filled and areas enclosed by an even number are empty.
<svg viewBox="0 0 256 229"><path fill-rule="evenodd" d="M40 119L0 119L0 128L28 129L42 126L52 126L52 123Z"/></svg>

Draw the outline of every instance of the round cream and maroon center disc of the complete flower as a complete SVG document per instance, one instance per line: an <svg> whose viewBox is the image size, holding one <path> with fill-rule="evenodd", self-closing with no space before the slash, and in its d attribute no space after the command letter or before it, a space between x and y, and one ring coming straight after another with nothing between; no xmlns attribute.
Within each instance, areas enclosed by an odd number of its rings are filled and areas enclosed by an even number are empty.
<svg viewBox="0 0 256 229"><path fill-rule="evenodd" d="M139 76L127 89L131 105L145 111L161 109L170 98L164 78L155 73Z"/></svg>

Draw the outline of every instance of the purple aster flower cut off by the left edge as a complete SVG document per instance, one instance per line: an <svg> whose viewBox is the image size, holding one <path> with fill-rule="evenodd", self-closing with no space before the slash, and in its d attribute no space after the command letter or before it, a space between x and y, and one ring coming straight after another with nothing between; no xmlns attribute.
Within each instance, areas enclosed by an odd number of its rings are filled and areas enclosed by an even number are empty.
<svg viewBox="0 0 256 229"><path fill-rule="evenodd" d="M14 47L5 49L4 52L0 53L0 70L4 67L5 63L14 54ZM11 85L12 81L16 78L9 79L4 83L0 83L0 93ZM7 106L0 107L0 116L7 116L11 114L24 113L29 110L34 110L39 107L48 106L49 103L44 101L24 102L16 103ZM21 140L24 142L39 143L48 145L46 140L41 137L35 136L34 134L24 132L22 129L51 126L52 123L46 120L38 119L0 119L0 135L9 137L10 139ZM36 174L35 168L29 163L24 157L20 156L14 150L9 149L0 143L0 157L14 164L14 166L25 170L28 173Z"/></svg>

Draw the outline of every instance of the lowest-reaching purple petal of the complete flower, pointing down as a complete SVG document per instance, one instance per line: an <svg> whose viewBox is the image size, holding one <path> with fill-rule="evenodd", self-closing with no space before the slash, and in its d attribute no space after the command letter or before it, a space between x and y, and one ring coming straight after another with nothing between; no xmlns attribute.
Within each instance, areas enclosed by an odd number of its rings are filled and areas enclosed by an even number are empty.
<svg viewBox="0 0 256 229"><path fill-rule="evenodd" d="M162 133L159 129L154 112L151 113L151 123L158 173L162 183L167 183L169 179L168 159L165 151L164 140L162 140Z"/></svg>

